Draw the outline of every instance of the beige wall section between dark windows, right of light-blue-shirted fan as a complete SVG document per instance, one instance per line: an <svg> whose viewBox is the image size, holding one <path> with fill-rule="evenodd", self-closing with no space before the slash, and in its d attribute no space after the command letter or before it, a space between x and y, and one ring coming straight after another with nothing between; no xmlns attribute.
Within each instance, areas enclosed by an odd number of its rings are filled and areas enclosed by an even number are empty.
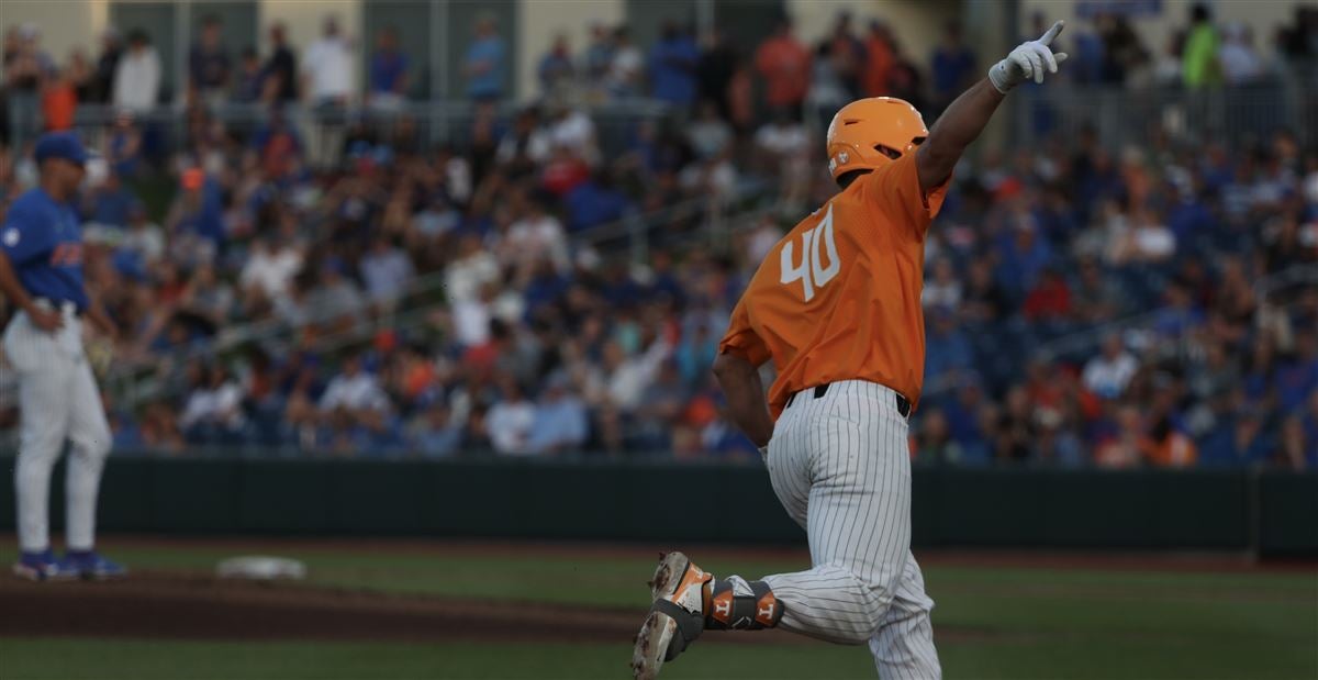
<svg viewBox="0 0 1318 680"><path fill-rule="evenodd" d="M521 4L517 40L518 98L540 95L535 75L540 57L554 45L559 33L565 33L573 54L580 54L590 43L590 24L600 21L614 25L626 18L625 0L530 0Z"/></svg>

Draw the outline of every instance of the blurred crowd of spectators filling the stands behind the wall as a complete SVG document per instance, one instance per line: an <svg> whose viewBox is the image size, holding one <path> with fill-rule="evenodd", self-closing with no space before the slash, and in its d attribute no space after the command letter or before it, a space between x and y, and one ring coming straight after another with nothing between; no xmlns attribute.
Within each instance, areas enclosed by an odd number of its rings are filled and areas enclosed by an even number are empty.
<svg viewBox="0 0 1318 680"><path fill-rule="evenodd" d="M954 25L927 66L882 22L862 34L846 14L815 49L784 21L745 57L675 25L647 53L601 25L580 54L560 40L538 70L543 99L505 116L498 30L481 20L467 53L469 133L434 148L406 116L378 127L357 113L387 113L406 92L409 59L387 30L358 98L351 69L333 67L351 57L332 21L301 59L275 26L264 61L249 49L237 62L203 22L177 148L136 116L159 96L148 36L124 49L109 34L95 62L75 53L57 69L34 28L7 33L5 203L34 182L24 152L38 121L71 127L78 101L120 111L96 130L86 273L123 331L115 369L159 393L107 391L116 448L753 459L709 366L764 253L834 191L811 116L887 94L932 121L982 71ZM1155 58L1124 20L1101 17L1065 72L1230 86L1311 63L1315 36L1301 13L1273 62L1195 12ZM1242 54L1257 69L1238 67ZM675 113L604 148L580 103L633 95ZM366 107L332 136L281 105L357 99ZM235 129L208 109L229 100L269 113ZM1318 149L1288 130L1195 132L1123 149L1093 130L1052 134L958 170L928 242L919 461L1318 465ZM167 206L153 211L161 178ZM679 225L650 235L643 264L581 237L731 202L757 181L779 203L726 252ZM1296 271L1307 283L1286 285ZM268 332L215 353L236 328Z"/></svg>

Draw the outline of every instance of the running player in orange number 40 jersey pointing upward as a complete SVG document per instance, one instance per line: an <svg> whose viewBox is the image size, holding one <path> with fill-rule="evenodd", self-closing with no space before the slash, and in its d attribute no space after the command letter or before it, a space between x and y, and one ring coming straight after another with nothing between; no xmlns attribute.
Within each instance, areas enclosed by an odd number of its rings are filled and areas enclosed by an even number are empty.
<svg viewBox="0 0 1318 680"><path fill-rule="evenodd" d="M1056 72L1058 21L990 69L928 130L899 99L847 104L828 129L841 191L770 250L733 311L714 373L812 567L714 579L664 555L633 671L651 679L705 629L782 627L869 643L879 677L941 677L911 555L907 418L924 374L924 237L953 166L1016 84ZM759 366L778 378L764 398Z"/></svg>

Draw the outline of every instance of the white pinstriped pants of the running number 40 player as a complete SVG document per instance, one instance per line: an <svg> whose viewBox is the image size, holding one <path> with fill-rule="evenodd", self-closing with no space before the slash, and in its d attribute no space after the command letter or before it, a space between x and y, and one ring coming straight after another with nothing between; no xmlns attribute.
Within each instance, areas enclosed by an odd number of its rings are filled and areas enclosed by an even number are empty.
<svg viewBox="0 0 1318 680"><path fill-rule="evenodd" d="M811 543L813 568L766 576L786 605L779 627L869 642L879 677L937 679L920 565L911 555L911 455L895 393L834 382L796 395L768 445L768 472Z"/></svg>

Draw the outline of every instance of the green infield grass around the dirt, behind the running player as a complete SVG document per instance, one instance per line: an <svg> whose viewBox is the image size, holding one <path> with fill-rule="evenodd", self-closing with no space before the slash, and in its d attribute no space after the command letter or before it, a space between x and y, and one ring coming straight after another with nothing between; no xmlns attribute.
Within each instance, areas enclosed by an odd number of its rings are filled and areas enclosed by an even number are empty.
<svg viewBox="0 0 1318 680"><path fill-rule="evenodd" d="M116 544L140 569L211 569L241 546ZM299 547L311 581L393 593L576 602L643 609L654 567L645 551L572 555ZM706 551L714 573L758 577L804 565L792 555ZM12 555L3 555L9 559ZM1318 573L1148 572L925 567L938 602L934 634L949 679L1318 677ZM3 605L0 605L3 610ZM3 611L0 611L3 613ZM199 613L202 615L202 613ZM639 623L639 619L638 619ZM436 679L625 677L630 646L500 643L156 642L0 639L0 677L18 679ZM874 677L863 647L701 642L666 668L679 679Z"/></svg>

